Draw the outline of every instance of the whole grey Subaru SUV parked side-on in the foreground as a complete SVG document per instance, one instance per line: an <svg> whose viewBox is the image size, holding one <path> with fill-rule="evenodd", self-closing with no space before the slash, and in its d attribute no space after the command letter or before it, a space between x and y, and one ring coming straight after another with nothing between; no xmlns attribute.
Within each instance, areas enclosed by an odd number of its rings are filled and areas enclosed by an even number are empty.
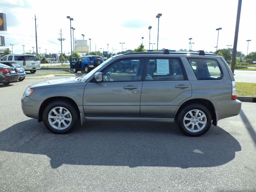
<svg viewBox="0 0 256 192"><path fill-rule="evenodd" d="M126 67L113 72L120 63ZM86 121L176 121L184 134L200 136L240 109L228 64L204 51L113 56L83 76L32 84L22 97L24 114L54 133Z"/></svg>

